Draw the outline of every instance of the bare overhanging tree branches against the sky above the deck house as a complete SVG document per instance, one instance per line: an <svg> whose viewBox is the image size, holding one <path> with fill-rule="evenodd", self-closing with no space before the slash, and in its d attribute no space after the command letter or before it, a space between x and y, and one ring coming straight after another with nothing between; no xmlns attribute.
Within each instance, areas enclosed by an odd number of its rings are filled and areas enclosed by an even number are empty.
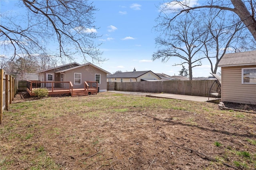
<svg viewBox="0 0 256 170"><path fill-rule="evenodd" d="M94 40L97 10L88 0L21 0L26 15L1 11L0 47L6 56L24 57L44 53L72 60L78 53L101 62ZM48 45L53 45L52 49ZM56 49L56 50L55 50ZM10 52L11 51L11 52Z"/></svg>

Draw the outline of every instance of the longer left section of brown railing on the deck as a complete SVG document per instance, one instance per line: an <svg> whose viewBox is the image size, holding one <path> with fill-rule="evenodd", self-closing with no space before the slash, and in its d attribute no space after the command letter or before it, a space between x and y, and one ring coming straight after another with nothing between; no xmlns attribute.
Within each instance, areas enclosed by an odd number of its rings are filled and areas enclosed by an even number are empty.
<svg viewBox="0 0 256 170"><path fill-rule="evenodd" d="M27 88L30 91L35 89L46 88L48 91L56 90L73 90L73 85L70 81L27 81Z"/></svg>

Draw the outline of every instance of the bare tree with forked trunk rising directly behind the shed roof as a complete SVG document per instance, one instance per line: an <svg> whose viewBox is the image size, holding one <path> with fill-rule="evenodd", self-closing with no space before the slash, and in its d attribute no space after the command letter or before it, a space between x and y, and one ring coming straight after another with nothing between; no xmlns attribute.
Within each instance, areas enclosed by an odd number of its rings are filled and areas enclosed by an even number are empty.
<svg viewBox="0 0 256 170"><path fill-rule="evenodd" d="M247 46L247 34L244 32L246 27L234 14L227 14L225 10L210 8L201 12L199 18L203 22L205 35L204 49L211 65L212 73L216 74L218 63L228 51L242 51L243 46ZM228 22L227 22L228 21ZM249 41L250 42L250 41Z"/></svg>

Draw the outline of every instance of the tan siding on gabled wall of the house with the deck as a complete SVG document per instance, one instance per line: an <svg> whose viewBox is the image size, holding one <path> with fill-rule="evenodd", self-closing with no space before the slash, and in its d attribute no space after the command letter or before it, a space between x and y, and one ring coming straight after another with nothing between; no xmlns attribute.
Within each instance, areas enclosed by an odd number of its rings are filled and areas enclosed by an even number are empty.
<svg viewBox="0 0 256 170"><path fill-rule="evenodd" d="M81 73L80 85L75 85L74 73ZM73 87L74 89L84 88L84 81L95 81L95 74L100 74L100 84L98 84L98 87L100 87L100 91L106 91L107 90L107 79L106 79L107 73L95 67L92 67L90 65L85 65L85 66L78 67L76 69L71 69L65 72L66 81L71 81L74 86Z"/></svg>

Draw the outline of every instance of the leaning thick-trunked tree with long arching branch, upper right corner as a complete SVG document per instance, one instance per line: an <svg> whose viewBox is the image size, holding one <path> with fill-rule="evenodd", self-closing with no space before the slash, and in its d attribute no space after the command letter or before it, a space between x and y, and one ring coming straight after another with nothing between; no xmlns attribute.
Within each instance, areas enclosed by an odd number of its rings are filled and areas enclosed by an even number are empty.
<svg viewBox="0 0 256 170"><path fill-rule="evenodd" d="M228 3L230 2L230 3ZM177 16L181 14L188 13L193 10L201 9L201 8L217 8L220 10L228 10L234 12L239 18L240 21L244 23L244 25L248 28L254 40L256 40L256 18L255 18L255 8L256 1L255 0L216 0L216 1L206 1L206 4L200 6L190 6L186 1L183 0L173 0L168 2L166 6L175 7L179 6L180 9L176 8L176 12L178 12L174 17L170 19L175 20Z"/></svg>

